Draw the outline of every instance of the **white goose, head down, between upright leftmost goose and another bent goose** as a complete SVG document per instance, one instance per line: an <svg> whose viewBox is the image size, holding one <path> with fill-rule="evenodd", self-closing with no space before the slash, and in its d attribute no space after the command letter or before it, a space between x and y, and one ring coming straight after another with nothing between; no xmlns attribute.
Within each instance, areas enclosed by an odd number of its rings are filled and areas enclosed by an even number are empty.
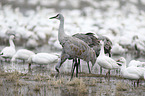
<svg viewBox="0 0 145 96"><path fill-rule="evenodd" d="M28 60L28 58L31 56L31 55L34 55L35 53L30 51L30 50L27 50L27 49L19 49L15 55L12 57L11 61L14 62L16 59L20 59L20 60L23 60L23 62L25 60Z"/></svg>

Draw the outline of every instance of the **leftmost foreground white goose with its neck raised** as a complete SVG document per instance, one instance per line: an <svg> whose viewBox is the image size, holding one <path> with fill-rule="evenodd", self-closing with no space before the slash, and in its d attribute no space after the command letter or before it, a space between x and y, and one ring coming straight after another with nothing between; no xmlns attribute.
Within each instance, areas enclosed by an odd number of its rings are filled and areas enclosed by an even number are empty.
<svg viewBox="0 0 145 96"><path fill-rule="evenodd" d="M13 39L14 39L14 35L11 35L10 38L9 38L9 44L10 46L9 47L5 47L1 52L0 52L0 55L7 59L7 58L12 58L13 55L16 53L16 50L15 50L15 44L13 42Z"/></svg>

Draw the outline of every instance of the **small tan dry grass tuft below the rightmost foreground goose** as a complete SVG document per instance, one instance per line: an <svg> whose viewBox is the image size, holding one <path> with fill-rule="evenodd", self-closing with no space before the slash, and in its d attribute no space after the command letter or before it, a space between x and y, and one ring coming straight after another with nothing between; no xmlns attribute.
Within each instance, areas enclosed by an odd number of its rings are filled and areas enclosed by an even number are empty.
<svg viewBox="0 0 145 96"><path fill-rule="evenodd" d="M116 90L117 91L127 91L129 89L129 85L123 82L117 82Z"/></svg>

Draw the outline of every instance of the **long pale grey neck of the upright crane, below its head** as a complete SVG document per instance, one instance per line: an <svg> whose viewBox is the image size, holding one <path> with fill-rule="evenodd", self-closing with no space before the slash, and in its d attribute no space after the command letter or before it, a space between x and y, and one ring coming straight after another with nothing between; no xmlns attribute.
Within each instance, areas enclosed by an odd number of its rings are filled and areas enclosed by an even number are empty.
<svg viewBox="0 0 145 96"><path fill-rule="evenodd" d="M64 37L66 37L66 36L67 36L67 35L66 35L65 32L64 32L64 18L61 17L61 19L60 19L60 24L59 24L59 30L58 30L58 40L59 40L59 42L61 42L62 39L63 39Z"/></svg>

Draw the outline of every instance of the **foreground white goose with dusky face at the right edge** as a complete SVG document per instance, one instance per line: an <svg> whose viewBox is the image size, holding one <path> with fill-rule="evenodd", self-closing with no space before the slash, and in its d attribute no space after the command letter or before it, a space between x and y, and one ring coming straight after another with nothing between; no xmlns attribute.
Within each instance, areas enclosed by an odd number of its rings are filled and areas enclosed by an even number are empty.
<svg viewBox="0 0 145 96"><path fill-rule="evenodd" d="M121 73L124 78L137 80L137 85L139 84L139 79L145 79L145 68L136 66L126 67L126 60L124 57L121 57L118 62L122 65Z"/></svg>

